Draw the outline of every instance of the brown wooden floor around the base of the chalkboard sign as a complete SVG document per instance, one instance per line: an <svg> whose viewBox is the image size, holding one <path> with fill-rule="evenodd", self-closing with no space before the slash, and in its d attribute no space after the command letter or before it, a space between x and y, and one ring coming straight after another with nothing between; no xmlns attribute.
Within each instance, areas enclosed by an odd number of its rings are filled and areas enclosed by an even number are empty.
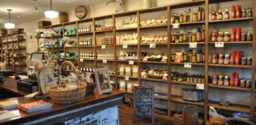
<svg viewBox="0 0 256 125"><path fill-rule="evenodd" d="M133 125L133 109L123 104L118 107L119 110L119 123L120 125ZM138 119L136 125L148 125L151 124L151 120ZM174 120L166 115L155 114L155 124L159 125L181 125L183 122L180 120Z"/></svg>

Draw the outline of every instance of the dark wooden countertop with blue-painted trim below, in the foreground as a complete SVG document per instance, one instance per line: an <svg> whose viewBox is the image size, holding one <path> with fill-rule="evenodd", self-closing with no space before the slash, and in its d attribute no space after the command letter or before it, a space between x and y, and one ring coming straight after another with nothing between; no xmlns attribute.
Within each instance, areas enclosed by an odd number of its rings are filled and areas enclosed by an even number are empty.
<svg viewBox="0 0 256 125"><path fill-rule="evenodd" d="M114 90L110 94L90 94L85 96L85 100L71 104L55 104L51 99L42 99L43 101L52 103L51 109L44 109L33 113L25 113L18 109L11 109L13 113L17 113L19 117L0 121L0 124L62 124L74 118L81 118L82 116L95 113L109 107L114 107L123 103L124 93L119 90ZM5 99L1 101L14 100L18 103L30 103L40 99L29 99L25 97L18 97L12 99ZM0 111L3 109L0 108Z"/></svg>

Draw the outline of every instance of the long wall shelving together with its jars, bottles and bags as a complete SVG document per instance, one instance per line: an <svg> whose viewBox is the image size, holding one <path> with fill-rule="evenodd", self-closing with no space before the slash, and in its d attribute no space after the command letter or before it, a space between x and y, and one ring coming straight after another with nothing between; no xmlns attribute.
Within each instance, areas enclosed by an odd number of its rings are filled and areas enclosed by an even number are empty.
<svg viewBox="0 0 256 125"><path fill-rule="evenodd" d="M246 101L250 105L231 101L225 107L218 105L223 103L218 97L207 96L214 89L254 96L255 2L250 2L198 1L60 24L62 36L70 38L64 40L62 55L77 58L85 73L108 67L114 88L128 94L133 94L132 86L165 86L155 98L166 102L167 115L173 102L203 107L205 120L209 106L251 115L252 97ZM180 84L203 86L203 101L185 101L171 92L181 91Z"/></svg>

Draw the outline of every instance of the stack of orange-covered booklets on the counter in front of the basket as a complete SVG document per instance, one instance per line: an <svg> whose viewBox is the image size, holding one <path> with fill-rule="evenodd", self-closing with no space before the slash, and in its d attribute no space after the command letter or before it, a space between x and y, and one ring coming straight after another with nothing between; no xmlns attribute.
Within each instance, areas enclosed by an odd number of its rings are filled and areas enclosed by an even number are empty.
<svg viewBox="0 0 256 125"><path fill-rule="evenodd" d="M31 113L34 111L40 111L42 109L49 109L49 108L51 108L51 103L47 103L42 100L36 101L33 103L25 103L25 104L18 105L18 109L26 111L27 113Z"/></svg>

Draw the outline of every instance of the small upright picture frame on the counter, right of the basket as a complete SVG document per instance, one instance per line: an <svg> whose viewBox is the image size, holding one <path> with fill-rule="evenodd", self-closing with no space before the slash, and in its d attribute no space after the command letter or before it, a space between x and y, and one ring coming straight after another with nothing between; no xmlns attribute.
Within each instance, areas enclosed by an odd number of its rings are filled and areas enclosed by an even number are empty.
<svg viewBox="0 0 256 125"><path fill-rule="evenodd" d="M107 68L97 68L94 72L99 94L112 92L110 73L108 73Z"/></svg>

